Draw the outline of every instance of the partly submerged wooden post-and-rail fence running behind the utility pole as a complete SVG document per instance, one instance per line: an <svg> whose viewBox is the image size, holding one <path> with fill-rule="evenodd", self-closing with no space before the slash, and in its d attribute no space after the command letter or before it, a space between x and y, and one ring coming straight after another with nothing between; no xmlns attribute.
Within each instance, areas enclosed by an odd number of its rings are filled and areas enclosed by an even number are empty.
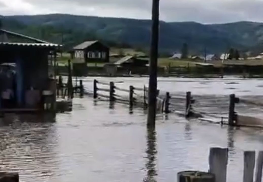
<svg viewBox="0 0 263 182"><path fill-rule="evenodd" d="M93 95L94 99L110 102L121 102L130 107L148 106L148 88L129 86L123 88L119 82L93 81L93 91L84 89L84 93ZM156 109L160 113L175 113L186 118L198 118L201 121L216 124L229 124L231 126L256 126L263 127L263 120L251 116L239 115L235 112L237 103L263 107L263 102L249 99L236 98L231 94L229 98L224 96L192 96L186 92L185 96L171 95L157 92Z"/></svg>

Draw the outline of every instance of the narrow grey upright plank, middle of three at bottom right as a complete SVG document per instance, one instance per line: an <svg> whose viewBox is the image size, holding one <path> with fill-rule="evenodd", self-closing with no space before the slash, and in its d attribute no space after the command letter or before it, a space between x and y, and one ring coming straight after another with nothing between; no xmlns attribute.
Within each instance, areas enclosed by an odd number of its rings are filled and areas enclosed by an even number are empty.
<svg viewBox="0 0 263 182"><path fill-rule="evenodd" d="M253 182L255 168L255 151L244 152L244 174L243 182Z"/></svg>

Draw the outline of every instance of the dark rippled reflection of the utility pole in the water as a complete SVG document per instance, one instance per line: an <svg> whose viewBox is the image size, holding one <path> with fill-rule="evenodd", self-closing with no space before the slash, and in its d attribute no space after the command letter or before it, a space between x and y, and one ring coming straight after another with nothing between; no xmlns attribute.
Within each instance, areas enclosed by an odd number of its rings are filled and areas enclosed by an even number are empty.
<svg viewBox="0 0 263 182"><path fill-rule="evenodd" d="M147 163L145 165L147 175L143 181L156 182L156 132L154 128L148 128L147 130L147 149L146 149Z"/></svg>

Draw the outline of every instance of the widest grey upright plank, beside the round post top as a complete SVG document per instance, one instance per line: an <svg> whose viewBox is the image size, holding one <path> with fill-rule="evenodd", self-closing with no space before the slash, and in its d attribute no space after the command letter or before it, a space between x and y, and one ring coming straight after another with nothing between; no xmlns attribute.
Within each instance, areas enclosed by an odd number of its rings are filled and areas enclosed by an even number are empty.
<svg viewBox="0 0 263 182"><path fill-rule="evenodd" d="M227 160L227 148L210 148L209 172L215 174L216 182L226 182Z"/></svg>

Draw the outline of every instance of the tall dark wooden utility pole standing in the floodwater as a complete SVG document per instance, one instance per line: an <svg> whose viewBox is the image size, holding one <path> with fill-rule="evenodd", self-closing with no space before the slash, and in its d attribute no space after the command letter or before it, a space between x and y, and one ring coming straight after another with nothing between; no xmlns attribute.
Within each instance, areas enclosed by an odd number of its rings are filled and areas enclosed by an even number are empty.
<svg viewBox="0 0 263 182"><path fill-rule="evenodd" d="M156 118L156 95L157 95L157 61L158 61L158 41L159 41L159 2L153 0L152 7L152 27L151 27L151 55L149 73L148 92L148 119L147 126L155 127Z"/></svg>

